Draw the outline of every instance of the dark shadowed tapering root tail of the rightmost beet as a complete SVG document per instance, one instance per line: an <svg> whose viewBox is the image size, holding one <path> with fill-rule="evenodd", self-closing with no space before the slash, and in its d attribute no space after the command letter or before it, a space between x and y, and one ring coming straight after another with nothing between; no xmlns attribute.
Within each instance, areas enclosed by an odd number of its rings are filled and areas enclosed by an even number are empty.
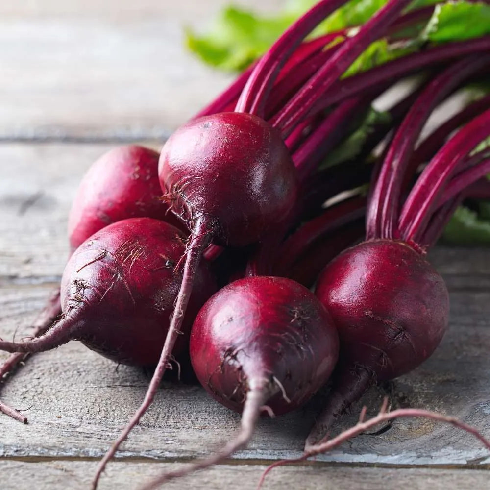
<svg viewBox="0 0 490 490"><path fill-rule="evenodd" d="M305 451L310 446L320 444L328 438L334 422L348 412L351 405L359 400L375 382L373 372L363 366L343 368L335 377L326 407L315 422L305 441Z"/></svg>

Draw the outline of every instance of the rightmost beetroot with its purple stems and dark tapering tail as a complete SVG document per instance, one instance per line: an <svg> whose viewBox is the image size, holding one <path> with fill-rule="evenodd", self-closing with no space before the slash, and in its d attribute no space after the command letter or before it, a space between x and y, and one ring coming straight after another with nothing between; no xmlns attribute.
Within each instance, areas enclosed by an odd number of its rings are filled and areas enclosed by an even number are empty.
<svg viewBox="0 0 490 490"><path fill-rule="evenodd" d="M319 277L317 295L339 329L341 364L307 448L323 442L335 418L372 383L416 368L441 341L448 323L448 293L424 255L442 232L446 205L453 209L454 193L461 192L451 179L468 186L488 172L488 162L475 162L478 155L484 159L485 152L468 155L490 134L490 109L439 150L401 201L403 185L410 177L407 169L415 168L411 156L432 108L489 59L461 60L422 91L398 128L373 184L366 242L344 251Z"/></svg>

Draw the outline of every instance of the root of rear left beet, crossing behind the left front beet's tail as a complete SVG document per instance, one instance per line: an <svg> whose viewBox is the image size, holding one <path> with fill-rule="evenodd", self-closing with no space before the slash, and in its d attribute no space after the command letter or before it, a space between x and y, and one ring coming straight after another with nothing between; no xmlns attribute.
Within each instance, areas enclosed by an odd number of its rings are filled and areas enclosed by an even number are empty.
<svg viewBox="0 0 490 490"><path fill-rule="evenodd" d="M43 335L52 323L61 315L61 304L60 304L60 291L59 289L54 291L48 299L47 305L39 313L37 318L34 320L33 327L34 331L32 335L34 337L39 337ZM28 356L28 353L16 352L10 355L7 360L0 366L0 381L6 376L7 373L11 372L12 369L16 368L21 361L24 361ZM4 413L8 417L12 417L23 424L27 423L27 417L21 414L18 410L15 410L0 400L0 412Z"/></svg>

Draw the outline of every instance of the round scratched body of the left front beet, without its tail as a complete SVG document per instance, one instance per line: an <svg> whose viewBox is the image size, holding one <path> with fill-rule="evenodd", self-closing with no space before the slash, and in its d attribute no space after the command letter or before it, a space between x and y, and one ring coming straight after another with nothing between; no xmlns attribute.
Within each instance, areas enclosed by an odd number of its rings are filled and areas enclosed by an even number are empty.
<svg viewBox="0 0 490 490"><path fill-rule="evenodd" d="M76 338L118 363L157 364L182 274L175 265L186 237L150 218L118 221L98 231L70 258L61 283L63 313L80 310ZM183 330L174 355L187 347L200 306L216 291L205 261L196 270Z"/></svg>

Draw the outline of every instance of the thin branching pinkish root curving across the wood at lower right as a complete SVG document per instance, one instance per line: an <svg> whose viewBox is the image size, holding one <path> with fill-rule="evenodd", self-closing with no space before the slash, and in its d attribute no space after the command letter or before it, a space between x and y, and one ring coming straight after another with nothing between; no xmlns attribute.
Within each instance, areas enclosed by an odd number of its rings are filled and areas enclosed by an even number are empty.
<svg viewBox="0 0 490 490"><path fill-rule="evenodd" d="M464 430L467 433L474 436L490 451L490 440L486 439L478 431L478 429L472 427L471 425L466 424L465 422L459 420L458 418L449 417L446 415L439 414L437 412L431 412L429 410L422 410L417 408L400 408L390 412L387 410L387 407L388 407L388 398L385 398L383 401L383 405L381 406L378 412L378 415L368 420L365 420L366 407L364 407L359 416L359 422L353 427L351 427L350 429L344 430L341 434L334 437L333 439L330 439L329 441L324 441L316 445L308 446L305 449L305 452L299 458L276 461L272 465L268 466L262 473L262 476L260 477L259 483L257 485L257 490L260 490L262 488L262 485L264 484L267 474L276 466L298 463L300 461L304 461L308 458L311 458L312 456L316 456L317 454L323 454L328 451L331 451L332 449L340 446L343 442L348 441L349 439L358 436L359 434L362 434L368 429L375 427L376 425L382 422L394 420L395 418L423 417L423 418L429 418L432 420L436 420L438 422L443 422L446 424L453 425L454 427Z"/></svg>

